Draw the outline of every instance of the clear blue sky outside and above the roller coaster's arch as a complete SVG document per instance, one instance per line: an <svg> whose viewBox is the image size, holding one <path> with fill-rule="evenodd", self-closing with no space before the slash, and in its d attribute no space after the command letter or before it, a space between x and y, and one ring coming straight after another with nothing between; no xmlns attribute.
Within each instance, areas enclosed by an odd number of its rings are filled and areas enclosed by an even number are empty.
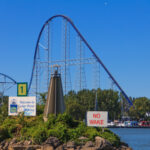
<svg viewBox="0 0 150 150"><path fill-rule="evenodd" d="M71 18L128 96L150 98L149 0L0 0L0 73L29 82L45 21Z"/></svg>

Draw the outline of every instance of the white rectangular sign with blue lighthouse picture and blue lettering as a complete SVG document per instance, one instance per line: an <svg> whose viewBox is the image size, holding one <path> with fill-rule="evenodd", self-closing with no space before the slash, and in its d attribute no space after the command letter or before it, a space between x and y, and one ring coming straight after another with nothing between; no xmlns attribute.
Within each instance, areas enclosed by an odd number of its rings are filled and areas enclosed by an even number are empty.
<svg viewBox="0 0 150 150"><path fill-rule="evenodd" d="M25 116L36 116L36 97L9 97L8 115L16 116L21 112Z"/></svg>

